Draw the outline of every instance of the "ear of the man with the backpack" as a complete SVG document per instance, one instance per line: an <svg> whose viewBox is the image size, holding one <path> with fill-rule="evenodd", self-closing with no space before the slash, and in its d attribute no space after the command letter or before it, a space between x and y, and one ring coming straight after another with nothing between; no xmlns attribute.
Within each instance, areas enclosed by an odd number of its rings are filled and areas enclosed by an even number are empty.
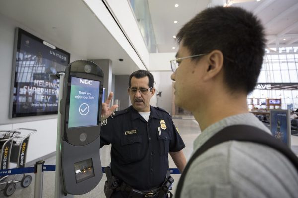
<svg viewBox="0 0 298 198"><path fill-rule="evenodd" d="M217 76L223 69L224 55L220 50L213 50L207 55L204 80Z"/></svg>

